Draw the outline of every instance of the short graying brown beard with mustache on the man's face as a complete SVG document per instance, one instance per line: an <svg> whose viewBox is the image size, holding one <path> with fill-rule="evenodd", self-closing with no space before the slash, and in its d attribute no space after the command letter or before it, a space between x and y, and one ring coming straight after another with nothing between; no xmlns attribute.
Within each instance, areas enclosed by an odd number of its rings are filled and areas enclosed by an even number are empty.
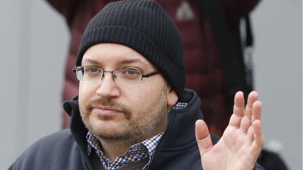
<svg viewBox="0 0 303 170"><path fill-rule="evenodd" d="M167 85L161 90L158 100L151 104L150 107L133 116L131 109L123 104L115 102L114 99L97 98L87 103L79 102L79 110L85 127L96 137L101 145L110 148L119 146L132 146L142 142L144 138L150 135L160 124L166 110ZM119 123L118 127L111 130L104 130L98 127L97 123L89 116L93 107L106 106L115 108L123 112L123 116L128 120L127 123ZM115 116L98 115L99 120L111 120ZM164 129L163 129L164 130Z"/></svg>

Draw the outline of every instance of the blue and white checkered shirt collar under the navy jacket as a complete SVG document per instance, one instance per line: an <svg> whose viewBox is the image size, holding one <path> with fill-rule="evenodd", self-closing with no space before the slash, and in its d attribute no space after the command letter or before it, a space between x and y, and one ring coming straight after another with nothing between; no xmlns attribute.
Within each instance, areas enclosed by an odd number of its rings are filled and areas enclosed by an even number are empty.
<svg viewBox="0 0 303 170"><path fill-rule="evenodd" d="M182 109L187 105L187 103L177 103L173 108L174 109ZM164 132L147 139L141 143L130 146L129 149L125 152L124 155L120 155L116 158L114 162L112 162L106 155L103 154L101 146L98 143L98 140L88 132L86 135L86 139L88 142L87 152L88 155L91 154L92 148L96 150L96 154L100 158L100 161L105 169L112 170L121 168L129 163L133 163L142 159L145 159L149 156L148 163L144 166L143 169L147 168L151 163L152 157L154 156L156 147L161 140Z"/></svg>

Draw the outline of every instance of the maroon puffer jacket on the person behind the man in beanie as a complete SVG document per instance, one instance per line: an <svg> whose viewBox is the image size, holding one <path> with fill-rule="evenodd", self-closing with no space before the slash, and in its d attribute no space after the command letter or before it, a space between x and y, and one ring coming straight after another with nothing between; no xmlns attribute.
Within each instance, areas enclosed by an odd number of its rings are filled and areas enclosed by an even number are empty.
<svg viewBox="0 0 303 170"><path fill-rule="evenodd" d="M221 0L228 23L237 23L256 6L259 0ZM48 0L66 18L71 32L70 51L66 62L63 101L78 94L79 82L71 71L86 25L90 19L113 0ZM179 28L184 44L186 85L201 98L201 111L210 132L221 135L232 114L226 106L224 72L212 37L210 22L204 18L197 0L157 0ZM230 24L229 44L234 60L242 60L237 47L237 24ZM64 113L63 128L69 127L70 117Z"/></svg>

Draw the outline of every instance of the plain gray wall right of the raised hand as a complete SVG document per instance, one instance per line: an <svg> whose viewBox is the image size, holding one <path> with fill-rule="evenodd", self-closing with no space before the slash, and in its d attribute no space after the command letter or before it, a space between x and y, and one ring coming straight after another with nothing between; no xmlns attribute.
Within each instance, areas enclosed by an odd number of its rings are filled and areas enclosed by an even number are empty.
<svg viewBox="0 0 303 170"><path fill-rule="evenodd" d="M301 170L302 1L262 1L252 22L265 147L277 148L289 168Z"/></svg>

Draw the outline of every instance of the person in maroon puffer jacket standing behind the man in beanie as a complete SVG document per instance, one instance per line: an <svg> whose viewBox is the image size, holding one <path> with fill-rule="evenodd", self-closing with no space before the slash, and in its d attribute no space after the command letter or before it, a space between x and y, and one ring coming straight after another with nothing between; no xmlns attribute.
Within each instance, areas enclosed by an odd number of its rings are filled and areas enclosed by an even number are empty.
<svg viewBox="0 0 303 170"><path fill-rule="evenodd" d="M78 94L79 82L70 69L74 67L85 27L97 12L114 0L47 1L66 18L71 33L63 90L63 101L66 101ZM233 95L241 90L247 97L252 91L251 84L246 81L239 21L241 17L248 15L259 0L156 2L170 16L181 33L186 68L185 87L196 91L201 98L200 109L204 120L208 122L210 133L221 136L233 113ZM223 33L220 32L222 30ZM220 42L225 43L222 45ZM67 128L70 117L65 112L63 117L63 128Z"/></svg>

